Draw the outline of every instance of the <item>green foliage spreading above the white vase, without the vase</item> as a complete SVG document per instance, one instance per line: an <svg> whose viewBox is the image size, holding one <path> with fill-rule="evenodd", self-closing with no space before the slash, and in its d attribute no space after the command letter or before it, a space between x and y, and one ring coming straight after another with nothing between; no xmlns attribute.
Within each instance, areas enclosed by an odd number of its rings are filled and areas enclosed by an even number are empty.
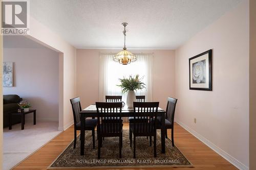
<svg viewBox="0 0 256 170"><path fill-rule="evenodd" d="M142 79L139 79L139 75L130 75L128 78L123 77L123 79L119 79L121 84L117 86L122 88L122 93L128 92L129 90L141 90L146 88L145 84L141 82Z"/></svg>

